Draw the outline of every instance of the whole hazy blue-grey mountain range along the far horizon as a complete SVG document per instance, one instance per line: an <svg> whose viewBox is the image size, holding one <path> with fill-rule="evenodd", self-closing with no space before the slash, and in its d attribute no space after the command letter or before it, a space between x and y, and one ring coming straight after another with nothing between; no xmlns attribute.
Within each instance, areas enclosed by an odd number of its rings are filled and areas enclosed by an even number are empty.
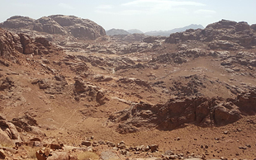
<svg viewBox="0 0 256 160"><path fill-rule="evenodd" d="M189 25L189 26L184 26L182 28L175 28L173 30L169 30L169 31L147 31L147 32L143 32L137 29L132 29L132 30L122 30L122 29L111 29L109 31L106 31L107 35L130 35L130 34L145 34L145 35L161 35L161 36L169 36L172 33L176 33L176 32L182 32L182 31L186 31L188 29L204 29L203 26L201 25Z"/></svg>

